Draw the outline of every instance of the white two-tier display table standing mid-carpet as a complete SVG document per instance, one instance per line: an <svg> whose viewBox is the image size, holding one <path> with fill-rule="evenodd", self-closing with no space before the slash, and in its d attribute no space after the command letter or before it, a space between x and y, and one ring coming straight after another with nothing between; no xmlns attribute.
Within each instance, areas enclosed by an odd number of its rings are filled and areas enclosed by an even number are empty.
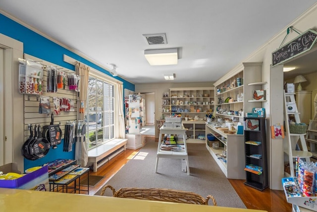
<svg viewBox="0 0 317 212"><path fill-rule="evenodd" d="M184 148L180 151L161 150L160 145L162 142L162 135L163 134L183 135ZM186 145L186 130L185 130L183 125L182 125L181 129L164 128L164 126L159 128L159 145L158 145L158 152L157 152L157 162L155 165L155 173L158 172L158 163L159 163L160 157L184 159L186 161L187 174L190 175L189 163L188 163L188 154L187 154L187 145Z"/></svg>

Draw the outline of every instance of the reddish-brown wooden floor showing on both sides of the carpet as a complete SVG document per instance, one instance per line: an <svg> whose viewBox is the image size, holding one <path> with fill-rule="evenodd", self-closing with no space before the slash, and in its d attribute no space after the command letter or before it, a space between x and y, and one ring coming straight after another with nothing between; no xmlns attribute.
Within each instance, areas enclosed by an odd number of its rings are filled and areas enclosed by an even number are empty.
<svg viewBox="0 0 317 212"><path fill-rule="evenodd" d="M154 142L155 138L146 137L147 142ZM112 158L105 165L100 167L97 172L90 171L91 175L105 176L95 187L89 188L89 194L94 195L99 189L106 185L106 182L129 161L131 155L135 154L138 150L126 149L114 158ZM229 182L245 204L248 209L264 210L267 212L292 212L292 205L286 202L283 191L265 189L258 191L254 188L244 185L244 180L229 179ZM83 189L86 189L83 187ZM115 188L119 189L119 188ZM87 194L87 192L81 192ZM211 194L212 195L212 194Z"/></svg>

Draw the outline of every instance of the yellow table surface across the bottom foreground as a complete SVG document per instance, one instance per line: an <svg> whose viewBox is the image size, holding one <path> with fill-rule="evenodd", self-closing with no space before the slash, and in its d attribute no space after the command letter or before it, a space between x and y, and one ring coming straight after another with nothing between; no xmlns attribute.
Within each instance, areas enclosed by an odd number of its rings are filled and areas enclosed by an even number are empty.
<svg viewBox="0 0 317 212"><path fill-rule="evenodd" d="M0 188L2 212L261 212L104 196Z"/></svg>

